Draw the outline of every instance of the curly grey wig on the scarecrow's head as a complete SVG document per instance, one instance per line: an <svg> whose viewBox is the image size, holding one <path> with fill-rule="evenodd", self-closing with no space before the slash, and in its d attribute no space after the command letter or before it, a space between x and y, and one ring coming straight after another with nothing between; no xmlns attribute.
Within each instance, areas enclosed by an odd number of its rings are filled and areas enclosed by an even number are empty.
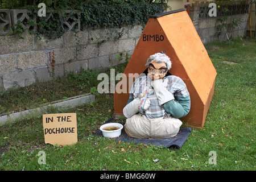
<svg viewBox="0 0 256 182"><path fill-rule="evenodd" d="M149 66L151 61L155 61L156 63L166 63L167 69L171 69L172 67L170 57L168 57L164 51L160 53L155 53L154 55L148 57L146 67Z"/></svg>

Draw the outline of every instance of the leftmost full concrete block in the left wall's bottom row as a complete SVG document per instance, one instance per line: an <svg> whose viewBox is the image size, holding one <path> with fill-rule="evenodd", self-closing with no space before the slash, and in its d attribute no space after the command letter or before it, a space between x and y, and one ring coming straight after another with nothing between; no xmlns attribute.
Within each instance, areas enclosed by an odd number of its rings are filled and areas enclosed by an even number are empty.
<svg viewBox="0 0 256 182"><path fill-rule="evenodd" d="M13 86L27 86L33 84L35 80L33 70L9 73L3 75L3 87L9 89Z"/></svg>

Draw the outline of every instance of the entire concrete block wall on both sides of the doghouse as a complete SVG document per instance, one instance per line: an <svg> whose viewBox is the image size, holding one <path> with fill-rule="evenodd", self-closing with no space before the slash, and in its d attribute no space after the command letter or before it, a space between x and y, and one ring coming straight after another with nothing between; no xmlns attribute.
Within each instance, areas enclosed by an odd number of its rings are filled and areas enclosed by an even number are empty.
<svg viewBox="0 0 256 182"><path fill-rule="evenodd" d="M201 18L201 6L205 6L205 1L192 3L189 16L203 43L216 41L220 17ZM30 34L22 34L24 39L19 39L18 35L10 35L10 26L15 20L28 19L28 11L0 10L0 13L0 92L15 85L26 86L36 80L48 81L57 76L65 76L71 71L79 72L81 67L101 70L118 65L123 60L120 61L117 55L121 52L131 55L142 34L140 25L117 29L78 30L75 33L71 31L74 21L67 20L69 30L59 39L47 40L42 37L39 40ZM47 12L47 18L55 16L54 13ZM242 27L236 28L234 36L246 34L248 17L249 12L228 15L229 30L234 18L242 19ZM75 23L80 28L80 22ZM117 38L119 34L122 34L121 38ZM225 34L221 36L221 40L226 39Z"/></svg>

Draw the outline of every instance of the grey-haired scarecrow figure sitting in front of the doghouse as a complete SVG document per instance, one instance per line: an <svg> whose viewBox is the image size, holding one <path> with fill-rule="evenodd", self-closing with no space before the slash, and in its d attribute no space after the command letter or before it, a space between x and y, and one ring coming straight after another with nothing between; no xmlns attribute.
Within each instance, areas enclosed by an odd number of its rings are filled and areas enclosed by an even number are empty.
<svg viewBox="0 0 256 182"><path fill-rule="evenodd" d="M129 137L171 138L179 132L182 125L179 118L188 114L191 101L184 81L177 76L166 76L171 64L164 52L155 53L147 60L147 75L133 82L123 108Z"/></svg>

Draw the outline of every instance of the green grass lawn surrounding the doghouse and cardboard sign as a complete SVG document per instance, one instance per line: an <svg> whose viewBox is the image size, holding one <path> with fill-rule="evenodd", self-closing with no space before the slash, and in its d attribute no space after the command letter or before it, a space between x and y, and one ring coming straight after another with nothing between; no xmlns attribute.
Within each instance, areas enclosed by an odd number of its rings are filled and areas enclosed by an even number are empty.
<svg viewBox="0 0 256 182"><path fill-rule="evenodd" d="M217 71L214 96L204 128L192 129L180 150L94 137L93 131L112 118L114 111L113 94L97 94L93 104L61 111L77 113L79 142L72 146L45 144L42 117L0 126L0 170L254 171L256 40L236 40L232 46L208 43L205 47ZM118 72L125 65L120 65ZM95 71L72 73L0 93L0 111L11 113L75 94L96 93L95 77L97 80ZM46 164L38 163L39 151L45 152ZM216 164L209 160L210 151L216 152Z"/></svg>

